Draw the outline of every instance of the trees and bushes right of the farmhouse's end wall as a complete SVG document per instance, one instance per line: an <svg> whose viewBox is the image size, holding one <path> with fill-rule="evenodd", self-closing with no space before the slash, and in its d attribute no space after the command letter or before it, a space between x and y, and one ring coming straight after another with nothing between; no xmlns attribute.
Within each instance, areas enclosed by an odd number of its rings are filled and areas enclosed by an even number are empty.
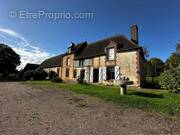
<svg viewBox="0 0 180 135"><path fill-rule="evenodd" d="M149 57L149 51L144 48L146 82L159 83L161 87L171 90L179 90L180 87L180 43L176 44L176 50L163 62L160 58Z"/></svg>

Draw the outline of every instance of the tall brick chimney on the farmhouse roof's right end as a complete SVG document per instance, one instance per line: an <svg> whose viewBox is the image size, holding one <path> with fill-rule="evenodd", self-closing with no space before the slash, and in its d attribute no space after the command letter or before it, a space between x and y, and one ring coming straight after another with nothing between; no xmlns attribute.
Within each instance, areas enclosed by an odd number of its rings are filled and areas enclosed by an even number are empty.
<svg viewBox="0 0 180 135"><path fill-rule="evenodd" d="M132 25L131 26L131 40L134 43L139 44L139 40L138 40L138 26L137 25Z"/></svg>

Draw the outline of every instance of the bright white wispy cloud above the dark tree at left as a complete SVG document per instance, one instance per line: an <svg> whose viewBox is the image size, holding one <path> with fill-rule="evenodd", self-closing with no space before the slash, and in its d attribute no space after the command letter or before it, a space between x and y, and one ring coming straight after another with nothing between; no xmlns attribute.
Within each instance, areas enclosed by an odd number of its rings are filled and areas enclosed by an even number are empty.
<svg viewBox="0 0 180 135"><path fill-rule="evenodd" d="M44 59L53 56L38 46L30 44L25 37L11 29L0 28L0 39L2 40L0 42L9 45L21 56L21 65L18 69L22 69L27 63L40 64Z"/></svg>

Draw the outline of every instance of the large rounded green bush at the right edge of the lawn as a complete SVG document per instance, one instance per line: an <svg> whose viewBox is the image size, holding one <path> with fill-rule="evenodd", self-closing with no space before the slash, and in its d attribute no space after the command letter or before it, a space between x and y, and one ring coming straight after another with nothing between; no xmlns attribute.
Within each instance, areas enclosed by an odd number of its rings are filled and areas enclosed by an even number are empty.
<svg viewBox="0 0 180 135"><path fill-rule="evenodd" d="M180 70L173 69L163 72L159 77L159 85L170 92L178 91L180 87Z"/></svg>

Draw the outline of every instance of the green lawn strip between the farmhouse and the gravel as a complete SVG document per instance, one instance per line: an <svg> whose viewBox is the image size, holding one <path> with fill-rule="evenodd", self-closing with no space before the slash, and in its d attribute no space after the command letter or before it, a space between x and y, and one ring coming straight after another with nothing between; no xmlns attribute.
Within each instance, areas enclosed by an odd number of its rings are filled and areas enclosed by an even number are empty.
<svg viewBox="0 0 180 135"><path fill-rule="evenodd" d="M120 105L180 116L180 94L168 93L166 90L129 88L128 95L120 96L119 88L117 86L52 83L50 81L30 81L26 84L60 90L70 90L79 94L98 97Z"/></svg>

